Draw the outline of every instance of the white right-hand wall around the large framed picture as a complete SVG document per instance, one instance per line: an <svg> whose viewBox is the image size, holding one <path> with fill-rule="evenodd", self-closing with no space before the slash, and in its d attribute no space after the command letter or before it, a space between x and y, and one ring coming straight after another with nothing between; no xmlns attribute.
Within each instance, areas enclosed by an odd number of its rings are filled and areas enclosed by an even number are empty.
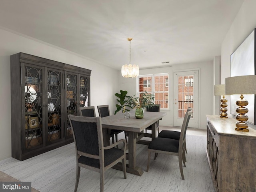
<svg viewBox="0 0 256 192"><path fill-rule="evenodd" d="M221 46L221 83L225 84L225 78L230 77L230 55L256 28L256 1L245 0L234 22L232 23ZM228 99L228 114L230 115L230 96ZM250 101L249 101L250 102ZM250 125L251 126L251 125Z"/></svg>

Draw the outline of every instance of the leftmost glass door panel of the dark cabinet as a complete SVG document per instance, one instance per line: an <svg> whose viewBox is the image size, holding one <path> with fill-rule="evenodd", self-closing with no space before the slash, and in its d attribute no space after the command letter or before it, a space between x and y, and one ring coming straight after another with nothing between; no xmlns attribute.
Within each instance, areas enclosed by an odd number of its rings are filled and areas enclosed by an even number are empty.
<svg viewBox="0 0 256 192"><path fill-rule="evenodd" d="M42 146L42 68L22 63L24 94L23 150ZM23 86L22 86L23 90Z"/></svg>

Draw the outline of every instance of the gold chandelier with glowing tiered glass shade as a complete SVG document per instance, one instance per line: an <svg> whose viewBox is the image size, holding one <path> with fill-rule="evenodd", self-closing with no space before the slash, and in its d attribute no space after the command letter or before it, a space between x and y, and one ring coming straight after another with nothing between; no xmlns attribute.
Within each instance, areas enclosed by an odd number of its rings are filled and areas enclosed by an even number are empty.
<svg viewBox="0 0 256 192"><path fill-rule="evenodd" d="M122 76L126 78L134 78L138 77L139 75L139 66L138 65L131 65L131 40L132 38L128 38L128 41L130 41L130 63L129 65L123 65L122 66Z"/></svg>

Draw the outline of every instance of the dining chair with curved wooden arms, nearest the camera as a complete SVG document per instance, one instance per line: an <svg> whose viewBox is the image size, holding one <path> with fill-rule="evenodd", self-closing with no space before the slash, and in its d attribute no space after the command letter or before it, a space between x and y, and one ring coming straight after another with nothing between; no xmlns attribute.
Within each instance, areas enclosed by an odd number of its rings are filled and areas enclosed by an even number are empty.
<svg viewBox="0 0 256 192"><path fill-rule="evenodd" d="M103 146L101 117L81 117L68 115L76 148L76 192L80 178L80 168L90 169L100 173L100 192L104 191L104 173L122 160L124 178L126 179L124 139ZM121 149L115 148L123 144Z"/></svg>

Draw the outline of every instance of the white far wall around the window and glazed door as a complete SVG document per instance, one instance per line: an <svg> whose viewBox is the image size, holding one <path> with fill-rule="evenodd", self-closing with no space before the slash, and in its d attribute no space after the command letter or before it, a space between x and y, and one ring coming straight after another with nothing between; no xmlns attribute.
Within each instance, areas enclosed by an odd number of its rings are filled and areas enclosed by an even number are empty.
<svg viewBox="0 0 256 192"><path fill-rule="evenodd" d="M188 64L176 64L171 67L164 68L153 68L153 69L140 69L140 75L146 74L159 74L159 73L169 73L169 110L161 110L161 112L166 112L167 115L162 118L159 122L162 126L173 126L173 73L177 70L191 70L200 69L199 73L199 127L200 129L206 129L206 114L212 114L213 112L213 62L198 62L198 63L188 63ZM120 89L127 90L127 95L136 94L136 78L126 79L121 75L119 76Z"/></svg>

